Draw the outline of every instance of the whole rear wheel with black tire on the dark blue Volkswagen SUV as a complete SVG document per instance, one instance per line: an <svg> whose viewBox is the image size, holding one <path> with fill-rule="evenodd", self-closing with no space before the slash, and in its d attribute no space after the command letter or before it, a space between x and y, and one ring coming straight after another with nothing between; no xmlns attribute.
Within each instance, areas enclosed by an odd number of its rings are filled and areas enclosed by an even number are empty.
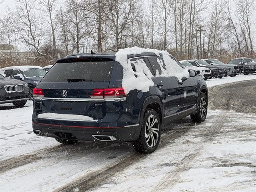
<svg viewBox="0 0 256 192"><path fill-rule="evenodd" d="M133 147L140 153L152 153L158 147L160 136L160 118L155 110L148 109L143 116L140 136L133 142Z"/></svg>

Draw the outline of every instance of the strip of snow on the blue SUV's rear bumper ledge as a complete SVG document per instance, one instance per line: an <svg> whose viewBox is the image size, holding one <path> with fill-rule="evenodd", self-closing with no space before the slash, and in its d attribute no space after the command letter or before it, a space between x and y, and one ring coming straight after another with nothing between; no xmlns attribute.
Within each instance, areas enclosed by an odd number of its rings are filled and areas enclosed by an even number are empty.
<svg viewBox="0 0 256 192"><path fill-rule="evenodd" d="M58 114L58 113L42 113L38 115L38 118L64 120L64 121L69 121L69 120L93 121L93 118L84 116L84 115Z"/></svg>

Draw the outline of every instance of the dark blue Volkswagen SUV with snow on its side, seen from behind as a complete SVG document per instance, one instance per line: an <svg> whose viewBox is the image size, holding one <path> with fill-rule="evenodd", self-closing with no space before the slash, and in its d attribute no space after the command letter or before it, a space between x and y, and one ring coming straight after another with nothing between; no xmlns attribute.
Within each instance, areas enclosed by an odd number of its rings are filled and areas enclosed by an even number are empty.
<svg viewBox="0 0 256 192"><path fill-rule="evenodd" d="M178 60L168 57L172 60L168 66L184 70ZM144 75L153 83L148 91L124 89L127 69L116 61L115 53L58 59L33 90L33 132L63 144L132 142L138 152L150 153L158 147L161 128L170 122L189 115L194 122L206 119L208 89L196 71L186 71L188 76L179 80L164 72L162 54L128 53L126 59L135 78L141 75L137 72L141 66L134 62L146 64L151 74Z"/></svg>

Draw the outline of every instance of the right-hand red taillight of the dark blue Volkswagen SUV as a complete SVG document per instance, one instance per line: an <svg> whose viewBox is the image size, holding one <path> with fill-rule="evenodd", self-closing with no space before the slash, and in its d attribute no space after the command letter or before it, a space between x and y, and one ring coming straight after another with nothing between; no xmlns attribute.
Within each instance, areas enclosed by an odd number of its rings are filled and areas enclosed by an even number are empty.
<svg viewBox="0 0 256 192"><path fill-rule="evenodd" d="M125 97L124 88L105 88L94 89L90 95L91 98L121 98Z"/></svg>

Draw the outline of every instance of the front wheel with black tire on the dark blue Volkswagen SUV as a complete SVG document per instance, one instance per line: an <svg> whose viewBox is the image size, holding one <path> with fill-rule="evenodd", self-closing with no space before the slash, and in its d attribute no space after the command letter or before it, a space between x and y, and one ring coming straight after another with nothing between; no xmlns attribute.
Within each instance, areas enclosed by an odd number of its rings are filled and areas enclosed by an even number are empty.
<svg viewBox="0 0 256 192"><path fill-rule="evenodd" d="M193 122L201 123L204 122L207 116L208 101L206 98L206 94L200 93L198 100L199 101L196 114L190 115L190 118L192 119Z"/></svg>

